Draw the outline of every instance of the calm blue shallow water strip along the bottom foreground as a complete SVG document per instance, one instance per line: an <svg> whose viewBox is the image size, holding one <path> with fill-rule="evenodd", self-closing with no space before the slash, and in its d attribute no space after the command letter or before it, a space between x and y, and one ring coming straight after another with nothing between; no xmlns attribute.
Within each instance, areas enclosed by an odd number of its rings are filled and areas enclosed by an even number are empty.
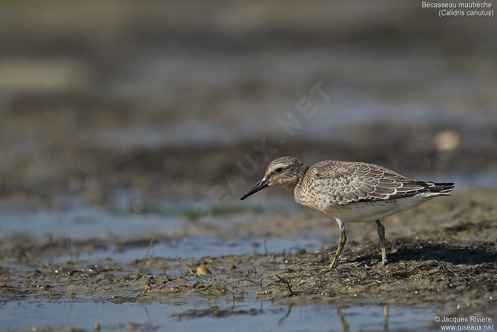
<svg viewBox="0 0 497 332"><path fill-rule="evenodd" d="M208 314L206 314L208 313ZM427 330L434 308L307 305L288 307L266 301L122 303L109 301L8 302L0 305L7 330L100 325L102 331L396 331ZM436 330L432 327L433 330ZM437 328L439 329L439 328Z"/></svg>

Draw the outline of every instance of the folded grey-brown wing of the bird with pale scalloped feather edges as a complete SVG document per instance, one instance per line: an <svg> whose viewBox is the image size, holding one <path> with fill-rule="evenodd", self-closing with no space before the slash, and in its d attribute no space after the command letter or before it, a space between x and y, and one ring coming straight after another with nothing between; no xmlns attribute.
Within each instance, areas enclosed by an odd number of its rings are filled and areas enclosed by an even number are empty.
<svg viewBox="0 0 497 332"><path fill-rule="evenodd" d="M308 173L311 186L327 207L393 200L444 190L433 182L406 178L373 164L321 162L313 165Z"/></svg>

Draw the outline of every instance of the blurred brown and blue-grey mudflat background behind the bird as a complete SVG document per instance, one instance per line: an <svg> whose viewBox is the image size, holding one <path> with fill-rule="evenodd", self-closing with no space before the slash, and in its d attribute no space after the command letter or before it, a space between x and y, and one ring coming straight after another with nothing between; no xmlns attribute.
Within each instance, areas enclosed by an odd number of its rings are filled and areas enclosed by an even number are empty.
<svg viewBox="0 0 497 332"><path fill-rule="evenodd" d="M283 155L497 183L488 16L394 0L2 1L0 26L4 237L62 236L57 215L73 239L206 224L233 237L304 213L274 188L239 201Z"/></svg>

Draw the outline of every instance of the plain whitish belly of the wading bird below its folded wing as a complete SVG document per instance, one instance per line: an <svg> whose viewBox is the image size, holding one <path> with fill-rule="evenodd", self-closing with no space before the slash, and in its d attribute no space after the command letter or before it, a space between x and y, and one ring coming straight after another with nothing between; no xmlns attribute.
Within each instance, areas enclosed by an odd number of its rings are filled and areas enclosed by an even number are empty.
<svg viewBox="0 0 497 332"><path fill-rule="evenodd" d="M414 196L397 200L350 203L319 212L330 219L339 219L343 222L375 221L413 209L430 198Z"/></svg>

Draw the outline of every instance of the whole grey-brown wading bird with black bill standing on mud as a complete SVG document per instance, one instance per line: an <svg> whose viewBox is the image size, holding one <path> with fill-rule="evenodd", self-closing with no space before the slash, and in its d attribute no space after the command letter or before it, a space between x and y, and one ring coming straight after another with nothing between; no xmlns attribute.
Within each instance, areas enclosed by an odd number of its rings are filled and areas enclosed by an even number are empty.
<svg viewBox="0 0 497 332"><path fill-rule="evenodd" d="M417 207L438 195L450 195L453 183L434 183L406 178L385 167L327 160L311 167L294 157L281 157L267 167L260 180L241 200L268 186L286 188L295 202L315 210L340 227L341 235L331 268L336 267L345 245L345 223L376 221L381 244L381 263L388 263L385 227L380 219Z"/></svg>

